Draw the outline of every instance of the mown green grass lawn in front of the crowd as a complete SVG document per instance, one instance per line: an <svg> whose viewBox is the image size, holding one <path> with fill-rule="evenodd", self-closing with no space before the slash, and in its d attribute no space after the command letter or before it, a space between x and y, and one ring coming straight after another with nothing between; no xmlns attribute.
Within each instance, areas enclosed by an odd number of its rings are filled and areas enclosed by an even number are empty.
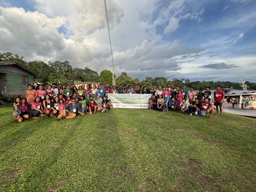
<svg viewBox="0 0 256 192"><path fill-rule="evenodd" d="M256 119L113 109L58 123L0 108L0 191L256 191Z"/></svg>

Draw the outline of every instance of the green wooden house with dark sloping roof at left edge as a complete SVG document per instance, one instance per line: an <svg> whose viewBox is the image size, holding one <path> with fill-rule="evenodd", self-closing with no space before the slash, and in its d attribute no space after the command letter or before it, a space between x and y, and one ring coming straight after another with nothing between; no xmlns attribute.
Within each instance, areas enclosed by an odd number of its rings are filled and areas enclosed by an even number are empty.
<svg viewBox="0 0 256 192"><path fill-rule="evenodd" d="M0 95L25 95L28 84L33 84L37 74L16 62L0 62Z"/></svg>

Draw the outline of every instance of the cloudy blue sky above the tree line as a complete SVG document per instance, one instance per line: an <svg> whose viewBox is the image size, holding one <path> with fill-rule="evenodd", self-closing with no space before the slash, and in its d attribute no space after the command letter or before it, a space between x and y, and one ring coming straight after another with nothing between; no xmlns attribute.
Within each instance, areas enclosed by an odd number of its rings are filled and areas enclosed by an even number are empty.
<svg viewBox="0 0 256 192"><path fill-rule="evenodd" d="M256 0L107 0L116 76L256 82ZM111 70L103 0L0 0L0 52Z"/></svg>

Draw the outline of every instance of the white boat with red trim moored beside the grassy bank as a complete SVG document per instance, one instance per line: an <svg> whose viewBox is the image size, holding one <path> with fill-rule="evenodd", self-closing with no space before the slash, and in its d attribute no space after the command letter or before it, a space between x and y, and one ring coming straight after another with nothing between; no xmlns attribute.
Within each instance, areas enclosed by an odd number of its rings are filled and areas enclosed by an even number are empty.
<svg viewBox="0 0 256 192"><path fill-rule="evenodd" d="M222 103L223 111L256 118L256 92L248 92L247 85L243 80L241 80L240 86L243 87L243 93L239 94L230 93L232 89L223 89L225 91L225 99Z"/></svg>

